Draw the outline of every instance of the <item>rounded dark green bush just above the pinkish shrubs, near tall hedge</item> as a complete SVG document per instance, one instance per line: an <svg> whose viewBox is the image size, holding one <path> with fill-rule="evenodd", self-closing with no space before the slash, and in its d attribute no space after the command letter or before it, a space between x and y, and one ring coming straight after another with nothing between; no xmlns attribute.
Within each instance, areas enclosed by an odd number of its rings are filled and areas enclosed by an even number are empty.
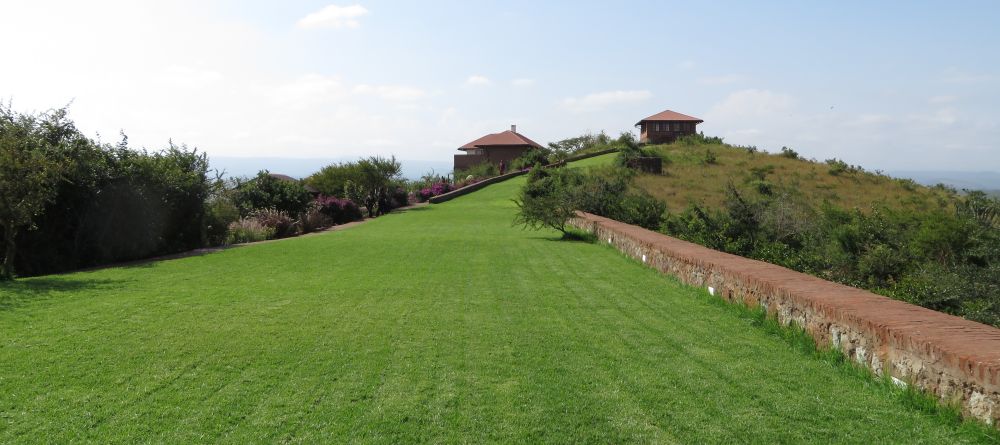
<svg viewBox="0 0 1000 445"><path fill-rule="evenodd" d="M313 199L301 182L277 178L267 170L252 179L238 179L231 198L244 217L265 209L298 215L309 209Z"/></svg>

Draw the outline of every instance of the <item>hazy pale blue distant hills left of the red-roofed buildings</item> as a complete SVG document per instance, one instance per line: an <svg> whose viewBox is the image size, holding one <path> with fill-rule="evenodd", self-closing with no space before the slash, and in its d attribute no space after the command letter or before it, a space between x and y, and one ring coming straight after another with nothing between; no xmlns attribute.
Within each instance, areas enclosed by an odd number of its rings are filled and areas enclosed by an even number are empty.
<svg viewBox="0 0 1000 445"><path fill-rule="evenodd" d="M357 159L209 156L208 161L211 168L224 171L227 177L254 176L261 170L267 170L293 178L305 178L327 165ZM451 173L452 168L451 162L447 161L400 159L399 162L403 167L403 177L407 179L419 179L431 170L438 174Z"/></svg>

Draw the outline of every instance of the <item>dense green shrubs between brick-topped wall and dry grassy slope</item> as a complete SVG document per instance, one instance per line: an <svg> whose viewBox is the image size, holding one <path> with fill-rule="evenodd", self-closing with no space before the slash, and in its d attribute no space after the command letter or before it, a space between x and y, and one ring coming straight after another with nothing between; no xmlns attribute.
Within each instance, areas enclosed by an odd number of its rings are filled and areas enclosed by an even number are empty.
<svg viewBox="0 0 1000 445"><path fill-rule="evenodd" d="M766 174L752 172L752 181ZM692 206L665 232L1000 326L997 205L975 193L954 212L817 209L790 190L755 199L730 185L721 209Z"/></svg>

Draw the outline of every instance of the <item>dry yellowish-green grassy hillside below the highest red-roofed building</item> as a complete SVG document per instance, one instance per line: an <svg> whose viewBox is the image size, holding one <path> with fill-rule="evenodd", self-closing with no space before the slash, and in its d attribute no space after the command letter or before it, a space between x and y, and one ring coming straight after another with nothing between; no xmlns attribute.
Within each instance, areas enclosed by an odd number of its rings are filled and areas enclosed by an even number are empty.
<svg viewBox="0 0 1000 445"><path fill-rule="evenodd" d="M908 179L841 165L812 162L777 154L754 152L718 143L668 144L649 147L667 161L665 174L642 175L636 185L665 201L671 212L680 212L689 203L719 207L725 199L725 187L753 192L755 180L764 173L764 181L776 189L801 195L816 204L829 202L843 208L869 209L880 203L893 208L927 210L951 204L953 193L930 188ZM715 161L706 158L711 153ZM834 173L831 173L834 171Z"/></svg>

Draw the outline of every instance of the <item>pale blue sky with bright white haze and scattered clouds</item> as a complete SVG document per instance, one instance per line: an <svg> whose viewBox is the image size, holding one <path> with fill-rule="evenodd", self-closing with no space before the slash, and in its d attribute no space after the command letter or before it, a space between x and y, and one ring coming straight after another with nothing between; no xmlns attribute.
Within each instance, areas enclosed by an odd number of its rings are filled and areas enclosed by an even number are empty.
<svg viewBox="0 0 1000 445"><path fill-rule="evenodd" d="M991 1L2 0L0 99L210 157L450 164L511 124L546 143L671 109L771 152L1000 171L997 23Z"/></svg>

